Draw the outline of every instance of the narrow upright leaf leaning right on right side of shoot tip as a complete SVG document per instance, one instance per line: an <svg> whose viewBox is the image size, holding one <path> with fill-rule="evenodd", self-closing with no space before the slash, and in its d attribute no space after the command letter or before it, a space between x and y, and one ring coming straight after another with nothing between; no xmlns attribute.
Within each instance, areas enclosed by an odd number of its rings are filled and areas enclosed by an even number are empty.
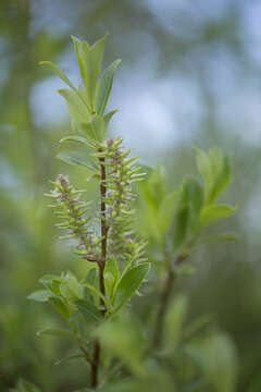
<svg viewBox="0 0 261 392"><path fill-rule="evenodd" d="M113 61L113 63L105 69L103 75L98 82L96 94L96 111L98 114L104 113L107 102L111 94L114 74L121 60Z"/></svg>

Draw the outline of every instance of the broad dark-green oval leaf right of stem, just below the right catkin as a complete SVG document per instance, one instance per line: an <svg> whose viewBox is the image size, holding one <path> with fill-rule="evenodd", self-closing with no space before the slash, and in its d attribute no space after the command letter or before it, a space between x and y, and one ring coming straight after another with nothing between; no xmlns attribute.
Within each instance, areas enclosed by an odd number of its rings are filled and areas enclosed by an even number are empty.
<svg viewBox="0 0 261 392"><path fill-rule="evenodd" d="M149 272L149 269L150 265L148 262L144 262L130 268L122 277L115 290L115 297L113 302L114 311L117 311L135 295Z"/></svg>

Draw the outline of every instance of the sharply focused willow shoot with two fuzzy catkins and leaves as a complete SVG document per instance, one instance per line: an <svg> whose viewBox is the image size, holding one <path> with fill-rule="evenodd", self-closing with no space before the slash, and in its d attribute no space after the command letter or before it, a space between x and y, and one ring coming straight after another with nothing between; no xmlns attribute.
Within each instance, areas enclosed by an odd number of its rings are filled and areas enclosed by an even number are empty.
<svg viewBox="0 0 261 392"><path fill-rule="evenodd" d="M36 301L49 301L67 320L78 346L90 365L91 387L98 383L100 344L94 340L92 353L86 348L86 339L80 336L75 314L97 322L115 315L135 294L146 278L149 264L144 262L145 243L133 233L134 183L142 180L137 157L123 147L122 137L107 139L107 130L115 110L104 113L111 93L114 73L121 60L114 61L98 78L105 35L95 45L73 38L83 86L74 87L60 68L51 62L41 64L54 71L69 88L60 89L72 119L74 134L61 142L75 142L91 157L88 169L100 182L100 210L89 215L89 203L80 200L82 192L60 174L54 188L47 196L52 199L51 207L61 220L59 229L65 231L61 238L74 238L74 253L98 267L99 286L86 281L78 282L72 272L61 277L45 275L40 282L44 291L33 293ZM75 151L66 151L60 158L75 164ZM77 164L86 166L77 156ZM99 229L98 229L99 226ZM121 268L121 272L120 272ZM96 272L94 269L92 272ZM86 294L87 290L87 294Z"/></svg>

